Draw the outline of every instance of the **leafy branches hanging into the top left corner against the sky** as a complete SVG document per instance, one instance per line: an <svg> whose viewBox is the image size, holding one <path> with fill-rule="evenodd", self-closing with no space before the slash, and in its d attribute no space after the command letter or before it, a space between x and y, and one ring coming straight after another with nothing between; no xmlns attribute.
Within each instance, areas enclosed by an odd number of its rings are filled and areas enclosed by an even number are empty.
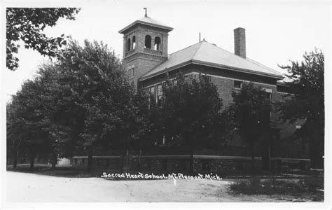
<svg viewBox="0 0 332 210"><path fill-rule="evenodd" d="M18 41L25 48L37 50L41 55L55 57L57 48L66 44L64 34L50 38L42 33L46 26L53 27L59 18L75 20L79 8L6 8L6 66L18 68Z"/></svg>

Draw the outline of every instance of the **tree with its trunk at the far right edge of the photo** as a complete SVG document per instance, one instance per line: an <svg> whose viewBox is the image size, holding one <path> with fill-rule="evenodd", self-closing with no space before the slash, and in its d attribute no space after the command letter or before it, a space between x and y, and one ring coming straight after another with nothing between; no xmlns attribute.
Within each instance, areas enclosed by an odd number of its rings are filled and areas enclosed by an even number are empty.
<svg viewBox="0 0 332 210"><path fill-rule="evenodd" d="M305 52L302 62L280 66L288 71L292 94L279 104L284 120L291 123L305 119L305 134L309 137L310 158L313 167L324 167L324 54L315 49Z"/></svg>

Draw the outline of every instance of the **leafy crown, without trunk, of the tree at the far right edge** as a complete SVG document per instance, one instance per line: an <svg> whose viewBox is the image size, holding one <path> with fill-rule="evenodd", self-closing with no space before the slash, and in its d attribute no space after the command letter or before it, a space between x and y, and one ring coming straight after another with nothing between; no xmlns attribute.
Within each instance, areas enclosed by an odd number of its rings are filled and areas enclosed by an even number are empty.
<svg viewBox="0 0 332 210"><path fill-rule="evenodd" d="M292 122L298 118L317 120L324 124L324 54L315 50L305 52L304 61L280 66L288 71L291 82L286 83L293 94L282 106L282 117Z"/></svg>

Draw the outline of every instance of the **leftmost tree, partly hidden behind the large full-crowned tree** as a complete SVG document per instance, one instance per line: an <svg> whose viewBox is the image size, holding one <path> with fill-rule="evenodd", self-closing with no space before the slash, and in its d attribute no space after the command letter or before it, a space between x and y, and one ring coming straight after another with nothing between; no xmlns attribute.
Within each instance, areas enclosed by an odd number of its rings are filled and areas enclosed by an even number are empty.
<svg viewBox="0 0 332 210"><path fill-rule="evenodd" d="M19 151L28 153L33 169L36 155L50 150L43 95L39 80L27 80L7 104L7 142L13 146L14 167Z"/></svg>

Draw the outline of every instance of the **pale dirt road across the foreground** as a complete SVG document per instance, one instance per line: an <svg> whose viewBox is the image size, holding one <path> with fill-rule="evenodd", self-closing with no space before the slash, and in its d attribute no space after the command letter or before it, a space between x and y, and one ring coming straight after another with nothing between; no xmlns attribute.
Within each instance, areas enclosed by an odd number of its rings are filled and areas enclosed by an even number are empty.
<svg viewBox="0 0 332 210"><path fill-rule="evenodd" d="M233 195L230 181L65 178L6 173L8 202L280 202L266 195Z"/></svg>

